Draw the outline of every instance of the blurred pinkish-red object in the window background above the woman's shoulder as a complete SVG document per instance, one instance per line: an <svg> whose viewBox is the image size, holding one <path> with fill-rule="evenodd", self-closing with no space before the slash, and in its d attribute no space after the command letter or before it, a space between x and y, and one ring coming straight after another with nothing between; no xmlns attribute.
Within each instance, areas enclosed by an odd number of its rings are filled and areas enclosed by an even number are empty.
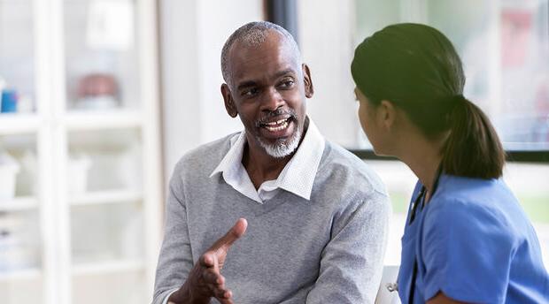
<svg viewBox="0 0 549 304"><path fill-rule="evenodd" d="M503 67L524 65L532 40L532 13L501 11L501 61Z"/></svg>

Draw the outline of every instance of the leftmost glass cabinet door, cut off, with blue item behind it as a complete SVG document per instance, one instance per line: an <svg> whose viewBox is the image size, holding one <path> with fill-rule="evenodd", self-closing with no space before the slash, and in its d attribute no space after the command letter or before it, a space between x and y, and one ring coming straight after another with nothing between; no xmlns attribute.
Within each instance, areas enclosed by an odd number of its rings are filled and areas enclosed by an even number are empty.
<svg viewBox="0 0 549 304"><path fill-rule="evenodd" d="M44 302L35 38L33 1L0 0L0 301L7 304Z"/></svg>

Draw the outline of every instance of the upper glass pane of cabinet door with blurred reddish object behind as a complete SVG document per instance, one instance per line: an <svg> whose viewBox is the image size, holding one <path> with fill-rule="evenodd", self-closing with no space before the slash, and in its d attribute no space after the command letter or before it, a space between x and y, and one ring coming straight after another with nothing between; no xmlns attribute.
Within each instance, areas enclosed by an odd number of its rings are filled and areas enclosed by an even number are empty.
<svg viewBox="0 0 549 304"><path fill-rule="evenodd" d="M135 5L64 1L67 110L139 108Z"/></svg>

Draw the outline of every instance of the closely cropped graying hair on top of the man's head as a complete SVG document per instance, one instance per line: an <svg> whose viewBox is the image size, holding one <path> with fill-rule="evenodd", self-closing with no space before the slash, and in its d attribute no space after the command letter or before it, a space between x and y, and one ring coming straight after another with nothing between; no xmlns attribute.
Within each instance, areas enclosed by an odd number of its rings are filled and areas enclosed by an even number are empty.
<svg viewBox="0 0 549 304"><path fill-rule="evenodd" d="M235 33L231 34L221 50L221 72L223 74L223 80L225 80L229 87L232 86L229 66L229 52L232 46L237 42L247 48L258 47L267 40L267 35L271 31L282 36L282 41L288 43L293 56L298 60L298 64L301 64L301 54L299 52L298 43L286 29L267 21L250 22L239 27Z"/></svg>

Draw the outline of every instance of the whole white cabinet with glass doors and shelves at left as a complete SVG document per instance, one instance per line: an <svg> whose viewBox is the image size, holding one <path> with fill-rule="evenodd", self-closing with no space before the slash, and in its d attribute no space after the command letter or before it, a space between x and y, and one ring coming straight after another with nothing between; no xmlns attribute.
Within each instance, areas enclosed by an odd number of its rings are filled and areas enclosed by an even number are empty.
<svg viewBox="0 0 549 304"><path fill-rule="evenodd" d="M2 303L150 302L156 5L0 0L0 88L17 107L0 113Z"/></svg>

